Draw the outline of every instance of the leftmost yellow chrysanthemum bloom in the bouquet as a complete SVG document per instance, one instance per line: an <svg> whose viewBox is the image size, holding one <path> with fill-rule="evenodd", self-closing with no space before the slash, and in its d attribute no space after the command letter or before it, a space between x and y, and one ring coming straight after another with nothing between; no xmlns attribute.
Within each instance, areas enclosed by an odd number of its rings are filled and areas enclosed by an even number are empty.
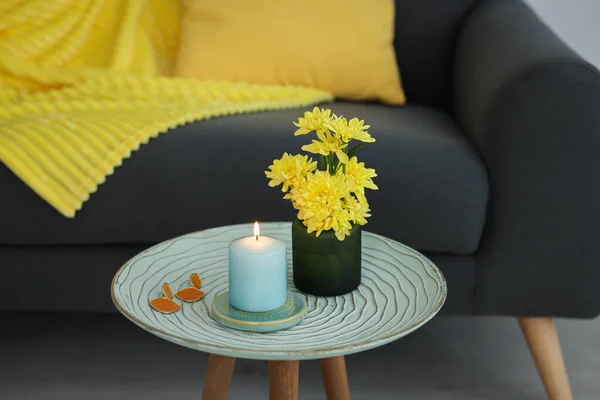
<svg viewBox="0 0 600 400"><path fill-rule="evenodd" d="M281 159L273 161L269 171L265 171L265 175L270 179L269 186L283 184L281 191L287 192L315 169L317 169L317 162L309 159L308 156L300 154L292 156L283 153Z"/></svg>

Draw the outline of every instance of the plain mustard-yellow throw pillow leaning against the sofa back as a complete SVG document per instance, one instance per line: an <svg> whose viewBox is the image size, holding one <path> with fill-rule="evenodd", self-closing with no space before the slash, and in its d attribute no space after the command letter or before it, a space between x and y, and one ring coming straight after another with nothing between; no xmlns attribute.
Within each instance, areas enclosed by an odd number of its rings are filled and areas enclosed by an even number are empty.
<svg viewBox="0 0 600 400"><path fill-rule="evenodd" d="M404 104L393 0L188 0L178 76Z"/></svg>

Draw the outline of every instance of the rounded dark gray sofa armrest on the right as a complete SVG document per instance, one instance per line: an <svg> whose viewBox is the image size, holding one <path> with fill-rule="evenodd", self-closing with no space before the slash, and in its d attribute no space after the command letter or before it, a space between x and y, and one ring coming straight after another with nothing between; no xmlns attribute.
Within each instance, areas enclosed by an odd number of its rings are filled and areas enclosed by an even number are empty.
<svg viewBox="0 0 600 400"><path fill-rule="evenodd" d="M522 1L484 1L458 38L453 84L490 179L476 309L597 316L600 74Z"/></svg>

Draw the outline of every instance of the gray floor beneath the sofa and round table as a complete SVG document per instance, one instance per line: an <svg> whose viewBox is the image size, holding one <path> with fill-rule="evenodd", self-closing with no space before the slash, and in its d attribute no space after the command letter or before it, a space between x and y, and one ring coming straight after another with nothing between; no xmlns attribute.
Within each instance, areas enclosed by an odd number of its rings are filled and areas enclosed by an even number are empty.
<svg viewBox="0 0 600 400"><path fill-rule="evenodd" d="M576 399L600 398L600 320L558 321ZM0 314L0 399L199 399L207 356L120 315ZM347 357L354 399L544 399L513 319L438 317ZM230 399L267 399L266 362L239 360ZM302 362L300 399L323 399Z"/></svg>

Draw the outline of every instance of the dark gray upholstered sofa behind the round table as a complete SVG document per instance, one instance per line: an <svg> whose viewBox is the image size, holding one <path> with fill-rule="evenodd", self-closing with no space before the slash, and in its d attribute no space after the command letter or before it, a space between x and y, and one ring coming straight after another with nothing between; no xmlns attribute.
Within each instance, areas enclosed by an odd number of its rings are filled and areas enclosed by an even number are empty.
<svg viewBox="0 0 600 400"><path fill-rule="evenodd" d="M366 229L439 265L444 314L597 316L599 72L520 0L396 8L409 104L331 105L365 119L378 141L362 152L380 187ZM292 136L302 111L178 128L127 160L74 220L0 166L0 308L115 311L110 279L142 249L193 230L291 220L263 171L306 142Z"/></svg>

